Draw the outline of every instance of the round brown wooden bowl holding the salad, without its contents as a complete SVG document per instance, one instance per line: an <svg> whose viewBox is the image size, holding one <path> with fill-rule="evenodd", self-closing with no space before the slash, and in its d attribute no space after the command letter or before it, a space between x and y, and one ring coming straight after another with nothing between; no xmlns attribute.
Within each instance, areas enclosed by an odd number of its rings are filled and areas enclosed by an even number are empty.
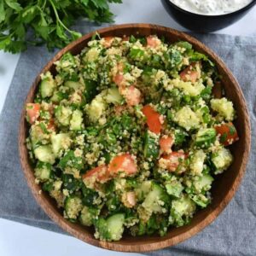
<svg viewBox="0 0 256 256"><path fill-rule="evenodd" d="M59 224L63 230L66 230L71 235L79 238L82 241L88 242L91 245L123 252L146 252L176 245L178 242L194 236L196 233L210 224L215 218L217 218L218 214L224 210L224 207L227 206L235 194L239 183L241 182L241 177L246 170L251 141L250 122L244 96L242 95L241 88L236 79L228 67L224 65L224 62L218 57L218 55L214 54L211 49L208 49L207 46L201 44L195 38L191 38L189 35L183 32L177 32L171 28L163 26L154 26L148 24L111 26L100 29L97 32L99 32L102 37L122 37L124 35L148 36L151 34L156 34L160 37L164 36L170 43L178 40L185 40L190 44L193 44L196 50L210 56L212 61L217 64L218 72L223 77L222 81L226 94L228 98L234 102L236 108L237 119L235 121L235 125L238 130L240 140L235 145L230 147L230 150L234 155L234 162L232 166L230 166L229 170L218 176L216 181L213 183L212 204L206 209L197 212L195 217L192 219L191 224L180 228L172 228L168 231L167 235L163 237L156 235L137 237L125 235L120 241L99 241L94 238L92 229L86 228L80 224L73 224L67 221L67 219L63 218L61 211L56 207L55 201L51 199L47 193L41 193L40 185L34 182L35 177L32 166L30 165L25 143L29 127L26 123L26 110L24 107L20 118L19 148L21 166L25 173L26 181L32 190L32 194L38 201L38 204L44 209L44 212L48 214L49 218L54 220L56 224ZM67 45L66 48L61 49L61 51L55 55L55 57L49 61L49 63L46 64L41 73L45 73L48 70L55 73L54 62L59 60L67 51L70 51L73 55L79 54L80 51L86 46L88 41L90 41L93 34L94 32L90 32L72 44ZM39 82L40 77L38 75L26 97L26 103L33 102L36 91L38 90Z"/></svg>

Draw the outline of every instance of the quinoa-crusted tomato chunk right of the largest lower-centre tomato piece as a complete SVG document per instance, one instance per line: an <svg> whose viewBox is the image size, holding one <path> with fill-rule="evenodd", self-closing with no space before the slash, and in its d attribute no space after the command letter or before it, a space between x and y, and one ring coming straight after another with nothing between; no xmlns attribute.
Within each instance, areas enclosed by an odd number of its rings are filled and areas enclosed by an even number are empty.
<svg viewBox="0 0 256 256"><path fill-rule="evenodd" d="M172 152L162 156L159 160L160 167L167 169L170 172L175 172L177 167L183 160L187 158L187 155L183 152Z"/></svg>

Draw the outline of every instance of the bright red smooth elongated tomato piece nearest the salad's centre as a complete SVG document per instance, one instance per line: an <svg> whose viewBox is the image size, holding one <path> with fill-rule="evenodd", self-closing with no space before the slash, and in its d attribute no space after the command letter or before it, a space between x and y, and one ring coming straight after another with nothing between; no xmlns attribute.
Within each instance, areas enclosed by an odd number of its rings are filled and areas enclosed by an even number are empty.
<svg viewBox="0 0 256 256"><path fill-rule="evenodd" d="M162 129L160 113L157 113L150 105L146 105L143 107L143 114L147 118L147 125L149 130L159 134Z"/></svg>

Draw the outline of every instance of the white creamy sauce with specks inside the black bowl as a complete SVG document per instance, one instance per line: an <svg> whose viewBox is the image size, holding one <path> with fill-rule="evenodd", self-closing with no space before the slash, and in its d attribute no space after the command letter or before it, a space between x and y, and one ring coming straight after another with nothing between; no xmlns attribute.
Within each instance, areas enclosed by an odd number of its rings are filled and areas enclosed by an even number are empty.
<svg viewBox="0 0 256 256"><path fill-rule="evenodd" d="M179 8L200 15L224 15L245 7L253 0L170 0Z"/></svg>

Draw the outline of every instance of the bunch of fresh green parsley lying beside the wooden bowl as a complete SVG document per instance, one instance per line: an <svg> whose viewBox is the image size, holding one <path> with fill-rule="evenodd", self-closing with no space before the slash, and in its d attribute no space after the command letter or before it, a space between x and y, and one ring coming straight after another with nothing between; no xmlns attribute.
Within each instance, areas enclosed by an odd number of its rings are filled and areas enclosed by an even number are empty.
<svg viewBox="0 0 256 256"><path fill-rule="evenodd" d="M18 53L28 44L62 48L81 37L70 26L79 17L112 22L108 3L121 0L0 0L0 49Z"/></svg>

